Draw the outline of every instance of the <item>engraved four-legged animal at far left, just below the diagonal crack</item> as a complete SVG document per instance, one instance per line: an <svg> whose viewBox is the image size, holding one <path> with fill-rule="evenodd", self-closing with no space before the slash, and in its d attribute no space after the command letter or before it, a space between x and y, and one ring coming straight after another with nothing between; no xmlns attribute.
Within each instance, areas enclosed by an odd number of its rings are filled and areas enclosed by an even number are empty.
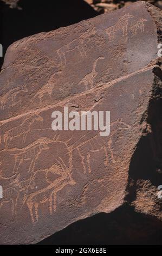
<svg viewBox="0 0 162 256"><path fill-rule="evenodd" d="M20 126L13 127L5 132L3 136L5 148L9 147L10 142L14 138L22 137L22 143L25 143L30 127L35 123L35 121L42 122L43 118L40 115L31 116L28 119L25 119Z"/></svg>

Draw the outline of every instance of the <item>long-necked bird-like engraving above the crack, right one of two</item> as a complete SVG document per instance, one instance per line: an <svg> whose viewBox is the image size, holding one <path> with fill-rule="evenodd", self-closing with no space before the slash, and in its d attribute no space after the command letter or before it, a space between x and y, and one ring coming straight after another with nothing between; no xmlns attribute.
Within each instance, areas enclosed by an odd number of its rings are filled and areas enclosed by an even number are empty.
<svg viewBox="0 0 162 256"><path fill-rule="evenodd" d="M93 86L93 82L95 77L98 75L98 72L96 71L96 65L98 64L98 61L100 59L105 59L105 57L99 57L95 60L95 62L93 63L93 68L92 68L92 72L88 73L86 76L84 76L82 78L82 80L79 82L79 84L85 84L86 89L88 89L88 86L90 86L90 88L92 88Z"/></svg>

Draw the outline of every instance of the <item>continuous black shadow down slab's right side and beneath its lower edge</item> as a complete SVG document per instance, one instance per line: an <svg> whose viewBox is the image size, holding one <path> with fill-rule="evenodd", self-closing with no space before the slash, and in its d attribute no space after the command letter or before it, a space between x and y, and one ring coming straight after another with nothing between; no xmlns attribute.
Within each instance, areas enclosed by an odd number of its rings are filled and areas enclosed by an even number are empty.
<svg viewBox="0 0 162 256"><path fill-rule="evenodd" d="M162 245L162 223L155 217L135 212L130 206L136 199L139 180L150 181L155 187L162 185L162 77L159 70L154 70L153 98L141 120L141 124L147 120L146 129L142 131L144 136L129 166L125 205L110 214L101 213L73 223L39 245Z"/></svg>

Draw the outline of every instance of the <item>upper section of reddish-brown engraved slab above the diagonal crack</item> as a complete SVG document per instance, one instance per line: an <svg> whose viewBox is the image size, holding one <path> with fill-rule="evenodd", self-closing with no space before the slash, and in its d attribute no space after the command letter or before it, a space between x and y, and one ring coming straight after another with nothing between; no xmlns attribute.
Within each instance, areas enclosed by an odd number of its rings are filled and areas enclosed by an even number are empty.
<svg viewBox="0 0 162 256"><path fill-rule="evenodd" d="M0 120L147 66L157 58L158 36L158 10L148 7L138 2L11 45L0 77Z"/></svg>

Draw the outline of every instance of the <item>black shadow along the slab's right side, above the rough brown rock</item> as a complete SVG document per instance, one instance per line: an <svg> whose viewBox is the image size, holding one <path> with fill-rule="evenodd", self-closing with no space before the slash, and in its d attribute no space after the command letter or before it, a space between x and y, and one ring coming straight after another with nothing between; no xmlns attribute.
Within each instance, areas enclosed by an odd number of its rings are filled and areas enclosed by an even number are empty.
<svg viewBox="0 0 162 256"><path fill-rule="evenodd" d="M138 182L148 181L153 186L162 185L162 72L159 68L153 70L154 88L152 99L145 113L144 120L147 122L143 136L135 149L129 166L129 184L126 201L131 204L136 199ZM150 126L150 128L149 128ZM162 210L162 209L161 209Z"/></svg>

